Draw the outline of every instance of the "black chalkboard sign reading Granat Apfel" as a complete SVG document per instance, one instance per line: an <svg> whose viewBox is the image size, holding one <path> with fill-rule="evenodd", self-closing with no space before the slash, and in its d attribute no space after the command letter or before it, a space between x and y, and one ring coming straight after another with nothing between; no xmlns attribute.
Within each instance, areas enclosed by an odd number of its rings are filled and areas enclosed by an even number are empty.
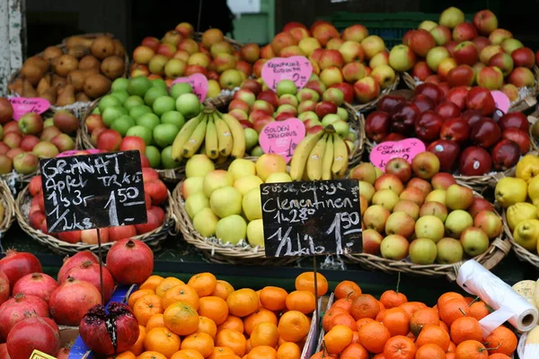
<svg viewBox="0 0 539 359"><path fill-rule="evenodd" d="M49 232L146 223L138 151L40 160Z"/></svg>

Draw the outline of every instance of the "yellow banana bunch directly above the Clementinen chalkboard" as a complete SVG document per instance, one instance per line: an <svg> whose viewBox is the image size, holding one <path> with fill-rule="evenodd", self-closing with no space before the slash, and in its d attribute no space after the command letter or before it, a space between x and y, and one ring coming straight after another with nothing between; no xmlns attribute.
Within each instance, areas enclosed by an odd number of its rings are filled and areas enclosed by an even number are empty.
<svg viewBox="0 0 539 359"><path fill-rule="evenodd" d="M349 162L349 147L328 126L309 134L297 145L290 162L292 180L336 180L344 177Z"/></svg>

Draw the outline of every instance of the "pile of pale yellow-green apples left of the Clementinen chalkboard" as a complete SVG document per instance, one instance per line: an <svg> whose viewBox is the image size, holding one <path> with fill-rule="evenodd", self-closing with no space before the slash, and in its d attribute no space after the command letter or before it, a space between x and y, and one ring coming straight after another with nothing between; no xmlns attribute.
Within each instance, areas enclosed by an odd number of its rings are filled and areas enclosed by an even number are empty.
<svg viewBox="0 0 539 359"><path fill-rule="evenodd" d="M195 154L185 173L181 197L197 232L222 243L264 246L260 185L292 181L283 157L267 153L256 162L236 159L228 170L216 170L206 154Z"/></svg>

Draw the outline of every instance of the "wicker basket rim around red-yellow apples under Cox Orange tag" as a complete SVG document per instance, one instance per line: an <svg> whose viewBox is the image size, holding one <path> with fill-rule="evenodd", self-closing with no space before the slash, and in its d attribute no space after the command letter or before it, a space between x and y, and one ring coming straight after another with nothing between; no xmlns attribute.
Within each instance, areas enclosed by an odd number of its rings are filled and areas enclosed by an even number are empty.
<svg viewBox="0 0 539 359"><path fill-rule="evenodd" d="M462 182L459 184L461 186L466 186ZM474 195L482 197L477 192L474 192ZM499 215L498 212L497 214ZM509 250L511 250L511 242L507 238L504 238L504 232L502 231L497 238L490 242L488 250L473 259L481 263L483 267L491 269L492 267L495 267L501 259L508 255ZM456 280L458 270L465 261L464 259L453 264L419 265L407 260L386 259L367 253L349 254L345 255L345 257L368 269L380 270L386 273L401 272L417 276L446 276L450 281Z"/></svg>

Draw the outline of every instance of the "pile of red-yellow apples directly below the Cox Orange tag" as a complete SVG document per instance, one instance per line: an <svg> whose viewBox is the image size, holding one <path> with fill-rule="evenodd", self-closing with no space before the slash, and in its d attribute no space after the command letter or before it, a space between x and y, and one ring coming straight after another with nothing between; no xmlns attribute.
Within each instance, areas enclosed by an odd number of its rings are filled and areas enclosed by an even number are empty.
<svg viewBox="0 0 539 359"><path fill-rule="evenodd" d="M502 230L499 215L439 169L437 156L423 152L411 163L394 158L385 173L367 162L350 171L350 178L359 180L364 253L429 265L489 249Z"/></svg>

